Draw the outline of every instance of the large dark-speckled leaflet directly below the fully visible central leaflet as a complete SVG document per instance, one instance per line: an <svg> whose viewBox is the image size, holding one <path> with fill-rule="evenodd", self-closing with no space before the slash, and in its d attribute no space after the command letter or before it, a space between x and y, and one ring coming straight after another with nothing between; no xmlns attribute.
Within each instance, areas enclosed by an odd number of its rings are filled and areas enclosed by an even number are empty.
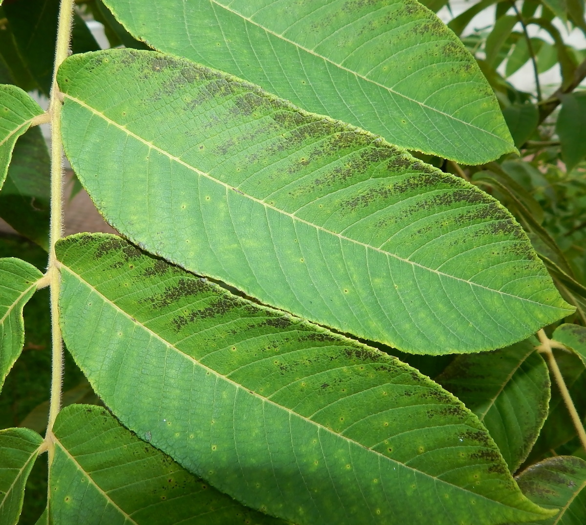
<svg viewBox="0 0 586 525"><path fill-rule="evenodd" d="M543 517L477 418L395 357L121 238L59 241L63 337L139 437L299 525Z"/></svg>

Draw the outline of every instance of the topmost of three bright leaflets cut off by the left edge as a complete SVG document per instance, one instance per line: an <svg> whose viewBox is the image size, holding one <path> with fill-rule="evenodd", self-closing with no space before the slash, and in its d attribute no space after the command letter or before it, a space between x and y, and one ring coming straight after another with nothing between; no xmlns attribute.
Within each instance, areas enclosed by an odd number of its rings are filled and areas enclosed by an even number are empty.
<svg viewBox="0 0 586 525"><path fill-rule="evenodd" d="M0 189L4 185L16 139L43 110L21 88L0 84Z"/></svg>

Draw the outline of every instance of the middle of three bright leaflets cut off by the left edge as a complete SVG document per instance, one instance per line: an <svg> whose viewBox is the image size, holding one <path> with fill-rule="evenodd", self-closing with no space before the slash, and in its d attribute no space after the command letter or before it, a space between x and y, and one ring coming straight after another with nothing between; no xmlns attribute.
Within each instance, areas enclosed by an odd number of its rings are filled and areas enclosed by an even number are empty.
<svg viewBox="0 0 586 525"><path fill-rule="evenodd" d="M22 308L41 277L32 264L14 257L0 259L0 390L21 354L25 339Z"/></svg>

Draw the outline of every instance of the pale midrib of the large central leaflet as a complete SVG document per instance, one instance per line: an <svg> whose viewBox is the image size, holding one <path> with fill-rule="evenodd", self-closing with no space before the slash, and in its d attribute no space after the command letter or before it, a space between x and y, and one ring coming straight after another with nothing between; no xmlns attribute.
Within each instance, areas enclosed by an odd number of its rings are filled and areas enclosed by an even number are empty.
<svg viewBox="0 0 586 525"><path fill-rule="evenodd" d="M83 101L79 100L79 98L72 97L71 95L69 95L67 93L64 93L63 96L64 96L64 98L69 98L69 100L73 101L74 103L77 103L81 107L84 107L87 110L93 112L94 115L97 115L98 117L103 118L103 120L105 122L107 122L110 125L113 125L114 127L120 129L121 131L124 131L130 137L133 137L133 138L137 139L139 142L142 142L142 144L147 145L149 148L154 149L155 151L158 151L159 153L161 153L162 155L165 155L167 158L171 159L172 161L175 161L175 162L179 163L180 165L185 166L185 168L188 168L190 171L193 171L193 172L197 173L198 175L201 175L201 176L203 176L203 177L205 177L205 178L207 178L209 180L212 180L213 182L215 182L215 183L217 183L219 185L224 186L228 190L232 190L232 191L238 192L238 193L240 193L240 195L243 195L244 197L247 197L248 199L253 200L256 203L261 204L261 206L264 206L265 208L274 210L275 212L278 212L278 213L281 213L281 214L283 214L285 216L288 216L288 217L290 217L294 221L299 221L301 223L306 224L307 226L311 226L312 228L314 228L316 230L323 231L324 233L327 233L329 235L338 237L338 238L340 238L342 240L348 241L349 243L358 244L359 246L363 246L364 248L367 248L369 250L377 251L377 252L382 253L384 255L387 255L387 256L396 258L397 260L399 260L399 261L401 261L403 263L411 264L413 266L422 268L423 270L427 270L427 271L432 272L432 273L435 273L437 275L442 275L444 277L447 277L447 278L450 278L450 279L454 279L455 281L465 282L466 284L468 284L470 286L474 286L474 287L477 287L477 288L485 289L485 290L488 290L489 292L493 292L493 293L500 294L500 295L503 295L503 296L512 297L512 298L517 299L517 300L520 300L520 301L524 301L524 302L528 302L528 303L532 303L532 304L536 304L536 305L540 305L540 306L547 306L547 308L553 308L553 309L556 309L556 310L562 309L562 308L560 308L558 306L548 305L548 304L544 304L544 303L541 303L541 302L532 301L531 299L527 299L527 298L524 298L524 297L520 297L518 295L508 294L507 292L503 292L503 291L500 291L500 290L495 290L493 288L485 287L485 286L483 286L481 284L478 284L476 282L468 281L468 280L462 279L460 277L455 277L454 275L449 275L449 274L446 274L444 272L441 272L441 271L438 271L438 270L434 270L433 268L428 268L427 266L424 266L423 264L415 263L415 261L411 261L409 259L400 257L399 255L396 255L394 253L391 253L389 251L384 251L384 250L381 250L380 248L377 248L377 247L374 247L374 246L370 246L369 244L362 243L362 242L357 241L355 239L352 239L350 237L346 237L346 236L343 236L342 234L336 233L335 231L328 230L328 229L326 229L326 228L324 228L322 226L318 226L318 224L313 224L313 223L311 223L309 221L306 221L304 219L301 219L300 217L297 217L293 213L285 212L285 210L280 210L277 207L271 206L271 204L268 204L268 203L264 202L263 200L260 200L260 199L257 199L256 197L253 197L251 195L248 195L247 193L242 192L241 190L237 189L236 187L230 186L227 183L223 182L222 180L219 180L219 179L214 178L212 175L209 175L209 173L200 171L199 169L195 168L194 166L188 164L187 162L182 161L179 157L174 156L174 155L171 155L169 152L165 151L164 149L159 148L158 146L155 146L152 142L149 142L146 139L144 139L142 137L139 137L139 135L137 135L134 132L130 131L130 129L128 129L127 127L125 127L125 126L123 126L121 124L118 124L118 122L115 122L115 121L111 120L110 118L106 117L102 112L94 109L90 105L88 105L88 104L84 103Z"/></svg>

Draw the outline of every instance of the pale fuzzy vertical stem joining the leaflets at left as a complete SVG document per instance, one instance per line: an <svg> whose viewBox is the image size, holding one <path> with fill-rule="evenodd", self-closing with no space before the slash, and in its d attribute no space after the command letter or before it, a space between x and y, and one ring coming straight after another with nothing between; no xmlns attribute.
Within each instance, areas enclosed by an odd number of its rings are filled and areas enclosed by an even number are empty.
<svg viewBox="0 0 586 525"><path fill-rule="evenodd" d="M52 441L53 424L61 407L61 388L63 378L63 343L59 325L60 273L55 256L55 243L61 238L63 231L63 144L61 139L61 100L57 87L57 70L69 54L71 39L71 22L73 20L73 0L61 0L59 7L59 25L57 27L57 45L53 70L53 84L49 102L51 118L51 219L49 244L49 287L51 296L51 329L52 329L52 379L49 405L49 422L46 440ZM49 455L52 456L49 449ZM51 458L50 458L51 459Z"/></svg>

